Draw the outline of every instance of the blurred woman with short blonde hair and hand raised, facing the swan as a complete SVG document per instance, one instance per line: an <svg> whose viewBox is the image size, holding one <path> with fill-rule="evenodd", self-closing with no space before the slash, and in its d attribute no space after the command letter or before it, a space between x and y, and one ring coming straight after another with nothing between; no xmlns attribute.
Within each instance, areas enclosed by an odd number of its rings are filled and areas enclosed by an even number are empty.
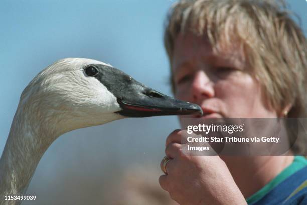
<svg viewBox="0 0 307 205"><path fill-rule="evenodd" d="M306 116L307 43L278 2L180 1L165 46L175 97L199 104L201 120ZM307 161L293 156L305 143L282 156L188 156L182 137L167 137L159 179L179 204L307 204Z"/></svg>

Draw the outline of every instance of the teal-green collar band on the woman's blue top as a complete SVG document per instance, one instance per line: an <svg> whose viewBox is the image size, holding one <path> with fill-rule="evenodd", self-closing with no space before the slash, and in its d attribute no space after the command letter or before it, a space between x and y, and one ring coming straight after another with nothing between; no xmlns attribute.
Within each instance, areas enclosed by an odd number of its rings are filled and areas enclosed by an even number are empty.
<svg viewBox="0 0 307 205"><path fill-rule="evenodd" d="M254 203L265 196L269 191L275 188L278 184L284 181L286 178L294 174L296 171L307 166L307 160L303 156L295 156L291 165L285 168L280 174L278 174L273 180L266 184L259 191L246 199L248 204Z"/></svg>

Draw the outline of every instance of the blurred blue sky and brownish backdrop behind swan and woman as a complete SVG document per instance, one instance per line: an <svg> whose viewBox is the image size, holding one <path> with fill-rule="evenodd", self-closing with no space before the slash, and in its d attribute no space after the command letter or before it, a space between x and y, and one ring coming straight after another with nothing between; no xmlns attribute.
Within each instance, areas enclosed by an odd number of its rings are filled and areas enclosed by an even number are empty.
<svg viewBox="0 0 307 205"><path fill-rule="evenodd" d="M110 63L172 95L163 28L174 2L1 0L0 152L21 92L61 58ZM307 1L287 2L306 33ZM36 169L27 195L37 199L23 204L173 204L160 190L158 177L165 138L177 128L173 116L125 119L66 133Z"/></svg>

